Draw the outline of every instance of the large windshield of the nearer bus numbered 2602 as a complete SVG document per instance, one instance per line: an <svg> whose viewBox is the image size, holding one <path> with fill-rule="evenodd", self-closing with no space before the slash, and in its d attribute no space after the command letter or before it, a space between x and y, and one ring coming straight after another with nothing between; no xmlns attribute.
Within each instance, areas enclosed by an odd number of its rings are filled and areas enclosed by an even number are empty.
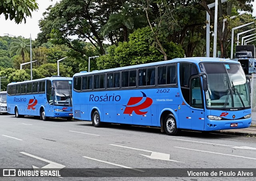
<svg viewBox="0 0 256 181"><path fill-rule="evenodd" d="M250 92L241 65L201 63L200 68L207 74L206 106L208 108L237 110L250 106Z"/></svg>

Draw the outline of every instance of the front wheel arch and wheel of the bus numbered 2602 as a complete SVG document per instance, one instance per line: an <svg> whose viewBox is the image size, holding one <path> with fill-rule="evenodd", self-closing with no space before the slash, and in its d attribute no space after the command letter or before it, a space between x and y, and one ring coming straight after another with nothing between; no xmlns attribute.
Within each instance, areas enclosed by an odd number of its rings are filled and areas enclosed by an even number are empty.
<svg viewBox="0 0 256 181"><path fill-rule="evenodd" d="M160 117L161 132L166 132L170 136L175 136L180 133L177 127L177 121L174 114L170 110L162 112Z"/></svg>

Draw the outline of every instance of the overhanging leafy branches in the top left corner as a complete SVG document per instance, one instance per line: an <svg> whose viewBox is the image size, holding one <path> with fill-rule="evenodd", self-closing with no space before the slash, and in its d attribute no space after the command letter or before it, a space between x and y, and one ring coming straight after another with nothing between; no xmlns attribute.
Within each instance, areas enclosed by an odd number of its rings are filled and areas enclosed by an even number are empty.
<svg viewBox="0 0 256 181"><path fill-rule="evenodd" d="M0 1L0 15L4 14L5 19L8 17L19 24L24 20L26 23L26 17L31 17L31 12L38 10L38 4L36 0L1 0Z"/></svg>

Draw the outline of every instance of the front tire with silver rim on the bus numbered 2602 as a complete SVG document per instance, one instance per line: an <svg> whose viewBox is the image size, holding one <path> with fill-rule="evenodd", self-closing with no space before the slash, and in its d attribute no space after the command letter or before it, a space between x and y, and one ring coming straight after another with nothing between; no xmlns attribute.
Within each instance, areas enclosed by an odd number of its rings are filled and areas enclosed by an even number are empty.
<svg viewBox="0 0 256 181"><path fill-rule="evenodd" d="M176 136L180 133L180 129L177 128L176 119L172 114L168 114L164 119L164 130L170 136Z"/></svg>

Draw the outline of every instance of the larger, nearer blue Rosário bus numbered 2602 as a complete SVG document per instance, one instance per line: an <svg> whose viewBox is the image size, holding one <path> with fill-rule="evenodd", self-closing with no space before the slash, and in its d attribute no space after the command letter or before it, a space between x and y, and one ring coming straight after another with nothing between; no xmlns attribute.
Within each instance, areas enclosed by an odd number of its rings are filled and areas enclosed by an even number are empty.
<svg viewBox="0 0 256 181"><path fill-rule="evenodd" d="M213 131L251 124L250 83L237 61L190 57L73 76L78 120Z"/></svg>

